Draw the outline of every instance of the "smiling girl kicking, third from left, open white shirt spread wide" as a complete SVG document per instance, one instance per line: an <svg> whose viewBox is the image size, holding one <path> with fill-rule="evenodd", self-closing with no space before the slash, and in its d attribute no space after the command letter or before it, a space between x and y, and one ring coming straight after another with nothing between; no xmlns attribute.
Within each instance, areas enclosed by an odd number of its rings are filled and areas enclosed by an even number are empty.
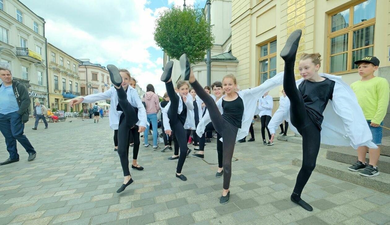
<svg viewBox="0 0 390 225"><path fill-rule="evenodd" d="M180 64L184 79L190 81L192 87L206 104L208 112L205 114L207 117L204 124L211 121L215 130L223 138L223 190L220 203L225 204L229 201L230 197L229 185L230 177L232 176L231 166L235 142L248 135L250 123L255 113L257 99L266 93L267 90L270 90L268 86L276 82L275 79L271 81L267 80L261 86L236 92L236 78L232 74L229 74L222 80L225 95L215 103L213 98L196 81L186 54L181 56ZM199 126L199 128L204 130L204 126Z"/></svg>

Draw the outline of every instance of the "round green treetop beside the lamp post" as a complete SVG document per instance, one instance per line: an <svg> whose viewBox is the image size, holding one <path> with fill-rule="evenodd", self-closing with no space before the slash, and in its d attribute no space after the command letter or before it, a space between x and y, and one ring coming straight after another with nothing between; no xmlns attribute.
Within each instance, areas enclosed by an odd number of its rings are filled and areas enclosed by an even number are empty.
<svg viewBox="0 0 390 225"><path fill-rule="evenodd" d="M213 47L215 37L208 27L202 9L187 6L183 11L172 6L156 19L154 40L171 58L178 60L186 53L188 61L195 63L204 60L207 49Z"/></svg>

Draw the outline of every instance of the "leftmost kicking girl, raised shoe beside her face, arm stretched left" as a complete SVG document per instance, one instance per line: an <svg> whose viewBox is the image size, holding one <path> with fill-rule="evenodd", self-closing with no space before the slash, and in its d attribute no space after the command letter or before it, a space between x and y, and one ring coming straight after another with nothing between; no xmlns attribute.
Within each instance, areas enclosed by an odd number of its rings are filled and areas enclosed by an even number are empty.
<svg viewBox="0 0 390 225"><path fill-rule="evenodd" d="M133 183L129 171L129 131L134 125L138 125L138 132L144 132L146 128L146 111L137 91L129 87L129 81L131 79L128 70L118 70L114 65L107 65L107 70L110 73L110 79L114 85L103 93L97 93L93 95L87 95L85 97L71 100L69 105L73 105L90 102L96 102L98 100L111 99L110 105L110 127L117 131L118 139L118 155L121 160L124 181L122 186L117 190L117 193L122 192L125 188ZM138 112L136 111L138 109ZM138 132L133 132L133 135L138 135ZM136 139L136 137L134 137ZM138 145L139 146L139 145ZM137 164L138 149L133 149L133 164L131 168L142 170L144 169Z"/></svg>

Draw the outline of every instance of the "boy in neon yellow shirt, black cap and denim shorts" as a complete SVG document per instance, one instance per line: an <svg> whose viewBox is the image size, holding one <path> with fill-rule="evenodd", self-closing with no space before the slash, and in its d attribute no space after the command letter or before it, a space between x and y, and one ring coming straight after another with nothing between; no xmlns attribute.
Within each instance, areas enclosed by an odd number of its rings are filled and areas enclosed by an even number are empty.
<svg viewBox="0 0 390 225"><path fill-rule="evenodd" d="M389 104L389 84L383 77L374 76L374 71L379 67L379 60L374 56L364 57L362 60L355 62L358 65L359 75L361 80L351 84L352 90L356 94L360 107L362 107L364 116L370 126L372 133L372 142L376 145L382 144L382 128L383 118L385 118L387 107ZM378 163L381 153L378 146L377 149L369 148L369 164L365 162L367 146L358 147L358 161L348 167L350 171L359 171L360 175L372 177L379 175Z"/></svg>

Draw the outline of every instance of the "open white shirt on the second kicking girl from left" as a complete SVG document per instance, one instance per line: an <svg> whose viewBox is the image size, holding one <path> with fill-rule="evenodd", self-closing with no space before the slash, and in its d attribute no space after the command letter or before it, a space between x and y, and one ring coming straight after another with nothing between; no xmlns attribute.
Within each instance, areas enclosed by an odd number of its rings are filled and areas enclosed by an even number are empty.
<svg viewBox="0 0 390 225"><path fill-rule="evenodd" d="M179 107L177 108L177 114L180 114L181 111L183 111L183 100L179 93L177 93L179 96ZM195 130L195 117L194 117L194 105L193 105L193 98L190 93L186 95L187 100L185 102L187 107L187 118L184 123L184 129L194 129ZM165 130L171 130L170 124L169 124L169 118L168 118L168 109L170 107L170 103L168 102L167 106L162 110L163 113L163 123Z"/></svg>

